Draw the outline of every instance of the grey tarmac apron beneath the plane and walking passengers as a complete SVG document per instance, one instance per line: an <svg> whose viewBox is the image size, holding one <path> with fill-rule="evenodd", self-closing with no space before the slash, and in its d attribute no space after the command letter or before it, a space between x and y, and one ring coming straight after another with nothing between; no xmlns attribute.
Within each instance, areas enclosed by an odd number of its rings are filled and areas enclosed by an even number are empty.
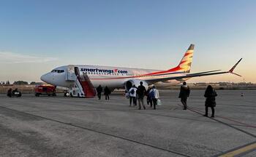
<svg viewBox="0 0 256 157"><path fill-rule="evenodd" d="M256 91L217 91L215 118L203 116L203 93L192 90L188 110L177 90L160 90L157 110L118 93L0 94L0 156L256 156Z"/></svg>

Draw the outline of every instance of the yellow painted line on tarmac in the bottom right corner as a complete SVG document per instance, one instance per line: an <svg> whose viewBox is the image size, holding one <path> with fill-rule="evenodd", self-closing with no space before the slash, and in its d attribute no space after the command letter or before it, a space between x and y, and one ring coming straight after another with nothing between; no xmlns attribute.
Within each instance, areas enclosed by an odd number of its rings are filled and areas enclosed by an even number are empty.
<svg viewBox="0 0 256 157"><path fill-rule="evenodd" d="M233 148L232 150L227 150L224 153L221 153L214 157L232 157L232 156L244 156L247 153L251 153L256 150L256 142L251 142L246 145Z"/></svg>

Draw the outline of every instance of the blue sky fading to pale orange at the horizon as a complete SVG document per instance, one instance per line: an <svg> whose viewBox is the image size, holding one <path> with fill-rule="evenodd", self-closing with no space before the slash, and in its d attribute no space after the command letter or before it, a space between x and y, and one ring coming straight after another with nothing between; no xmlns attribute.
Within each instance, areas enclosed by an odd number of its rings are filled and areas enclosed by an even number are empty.
<svg viewBox="0 0 256 157"><path fill-rule="evenodd" d="M170 69L195 44L190 82L256 83L254 0L0 0L0 81L69 64Z"/></svg>

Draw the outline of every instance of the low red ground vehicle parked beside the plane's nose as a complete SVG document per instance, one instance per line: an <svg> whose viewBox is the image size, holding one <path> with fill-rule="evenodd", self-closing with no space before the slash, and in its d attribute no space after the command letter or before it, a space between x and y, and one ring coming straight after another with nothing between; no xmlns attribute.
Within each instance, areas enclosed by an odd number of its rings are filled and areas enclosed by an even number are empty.
<svg viewBox="0 0 256 157"><path fill-rule="evenodd" d="M50 84L42 84L35 86L34 92L36 97L39 97L39 95L56 96L56 86L52 86Z"/></svg>

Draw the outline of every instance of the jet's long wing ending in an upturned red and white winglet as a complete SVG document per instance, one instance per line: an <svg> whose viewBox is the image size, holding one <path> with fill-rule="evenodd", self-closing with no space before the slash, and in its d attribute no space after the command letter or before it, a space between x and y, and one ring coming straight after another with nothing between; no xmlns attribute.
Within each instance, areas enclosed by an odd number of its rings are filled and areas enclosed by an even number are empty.
<svg viewBox="0 0 256 157"><path fill-rule="evenodd" d="M184 76L170 76L167 78L157 78L157 79L150 79L147 80L148 83L154 83L154 82L158 82L158 81L168 81L168 80L181 80L181 79L188 79L188 78L192 78L192 77L200 77L200 76L211 76L211 75L219 75L219 74L223 74L223 73L233 73L234 69L236 68L236 66L238 65L238 63L240 63L240 61L242 60L242 58L240 60L238 60L238 62L233 65L233 67L229 70L229 71L221 71L221 72L217 72L217 71L206 71L206 72L201 72L201 73L187 73ZM240 76L237 73L233 73L236 76Z"/></svg>

